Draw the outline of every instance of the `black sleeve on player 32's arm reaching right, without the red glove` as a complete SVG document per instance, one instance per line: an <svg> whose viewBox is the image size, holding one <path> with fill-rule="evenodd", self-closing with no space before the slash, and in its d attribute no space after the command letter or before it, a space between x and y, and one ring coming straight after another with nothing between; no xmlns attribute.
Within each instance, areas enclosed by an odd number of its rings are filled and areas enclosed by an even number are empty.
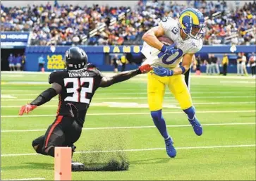
<svg viewBox="0 0 256 181"><path fill-rule="evenodd" d="M141 73L140 69L136 69L136 70L126 71L123 73L118 73L117 75L114 75L113 77L102 77L102 81L100 82L99 87L109 87L118 82L128 80L131 77L134 77L135 75L138 75L140 73Z"/></svg>

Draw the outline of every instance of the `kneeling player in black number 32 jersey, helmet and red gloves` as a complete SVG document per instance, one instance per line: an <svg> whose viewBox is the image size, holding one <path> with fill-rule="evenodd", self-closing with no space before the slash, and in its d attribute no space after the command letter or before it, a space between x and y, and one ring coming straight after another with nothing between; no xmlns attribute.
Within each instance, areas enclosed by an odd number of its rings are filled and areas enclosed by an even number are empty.
<svg viewBox="0 0 256 181"><path fill-rule="evenodd" d="M152 70L150 65L143 65L136 70L104 77L97 68L87 64L85 51L76 46L66 51L64 61L66 70L49 75L51 88L39 94L30 104L22 106L19 112L20 116L29 113L59 94L59 108L54 123L49 126L45 135L32 141L32 146L38 154L53 157L55 146L73 147L73 143L79 139L87 109L97 88L109 87ZM74 151L74 147L72 149Z"/></svg>

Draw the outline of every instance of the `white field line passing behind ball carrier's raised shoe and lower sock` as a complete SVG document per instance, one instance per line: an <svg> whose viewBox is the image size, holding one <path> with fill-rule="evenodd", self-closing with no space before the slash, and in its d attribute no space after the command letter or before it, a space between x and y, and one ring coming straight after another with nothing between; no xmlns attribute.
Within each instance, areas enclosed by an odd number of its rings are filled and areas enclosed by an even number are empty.
<svg viewBox="0 0 256 181"><path fill-rule="evenodd" d="M202 124L203 126L214 126L214 125L255 125L256 123L212 123ZM191 125L166 125L166 127L190 127ZM154 125L145 126L122 126L122 127L84 127L83 130L111 130L111 129L140 129L140 128L154 128ZM1 132L39 132L46 131L42 130L1 130Z"/></svg>

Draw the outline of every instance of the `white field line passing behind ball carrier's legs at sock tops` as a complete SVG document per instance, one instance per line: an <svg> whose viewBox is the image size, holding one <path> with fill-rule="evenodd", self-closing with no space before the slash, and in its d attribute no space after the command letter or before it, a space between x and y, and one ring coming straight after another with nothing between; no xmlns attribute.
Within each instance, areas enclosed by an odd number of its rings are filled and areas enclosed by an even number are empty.
<svg viewBox="0 0 256 181"><path fill-rule="evenodd" d="M164 112L163 114L179 114L181 111L177 112ZM197 111L197 113L255 113L255 110L229 110L229 111ZM150 113L88 113L87 116L116 116L116 115L150 115ZM17 115L8 115L8 116L1 116L1 118L26 118L26 117L51 117L56 116L56 114L42 114L42 115L23 115L23 116L17 116ZM3 121L3 120L1 120Z"/></svg>

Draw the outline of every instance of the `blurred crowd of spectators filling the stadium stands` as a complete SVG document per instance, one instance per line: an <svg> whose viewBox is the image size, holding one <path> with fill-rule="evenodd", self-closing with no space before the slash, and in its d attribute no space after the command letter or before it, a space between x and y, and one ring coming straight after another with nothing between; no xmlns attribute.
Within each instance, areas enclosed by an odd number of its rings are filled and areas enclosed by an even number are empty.
<svg viewBox="0 0 256 181"><path fill-rule="evenodd" d="M205 44L255 44L256 1L228 8L226 1L138 1L135 8L94 5L5 7L1 31L32 31L32 45L142 44L142 35L164 16L178 18L187 7L200 9L206 20Z"/></svg>

